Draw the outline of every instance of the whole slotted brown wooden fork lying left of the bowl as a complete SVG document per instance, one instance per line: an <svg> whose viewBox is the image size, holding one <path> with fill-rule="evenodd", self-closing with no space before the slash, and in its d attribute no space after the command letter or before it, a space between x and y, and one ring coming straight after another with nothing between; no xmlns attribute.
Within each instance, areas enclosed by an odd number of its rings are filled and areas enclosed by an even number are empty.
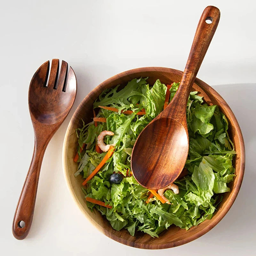
<svg viewBox="0 0 256 256"><path fill-rule="evenodd" d="M24 239L31 227L45 149L53 134L68 115L76 98L76 76L71 67L69 67L68 72L68 63L62 60L60 76L57 79L59 60L52 60L47 85L49 66L50 62L46 61L37 69L31 79L28 91L28 105L34 127L35 147L12 223L12 234L17 239Z"/></svg>

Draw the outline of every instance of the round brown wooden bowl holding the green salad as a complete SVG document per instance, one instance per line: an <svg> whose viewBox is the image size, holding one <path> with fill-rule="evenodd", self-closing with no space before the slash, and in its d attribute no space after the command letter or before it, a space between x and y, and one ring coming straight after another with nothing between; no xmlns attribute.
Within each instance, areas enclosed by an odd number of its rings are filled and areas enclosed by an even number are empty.
<svg viewBox="0 0 256 256"><path fill-rule="evenodd" d="M73 161L77 149L75 130L76 128L81 127L81 118L83 118L85 123L92 121L92 104L94 100L98 98L100 93L107 88L115 87L118 84L126 85L128 81L136 77L148 77L150 85L153 85L158 78L164 84L171 84L172 82L179 82L181 76L182 72L179 70L154 67L136 68L120 73L104 81L92 90L92 92L90 92L80 103L69 122L63 144L63 167L68 188L81 211L84 212L85 216L93 223L93 225L106 236L122 244L143 249L164 249L188 243L204 235L225 216L231 205L234 203L240 189L244 176L245 155L244 140L239 124L225 100L223 100L212 87L196 78L192 90L198 91L199 95L204 96L204 100L208 104L218 105L220 110L226 115L229 122L228 132L237 152L233 162L236 169L236 177L228 184L228 187L231 188L231 192L223 194L223 200L219 204L212 219L205 220L197 227L192 227L188 231L172 225L168 230L162 232L159 235L159 238L152 238L148 234L142 232L135 232L135 236L131 236L126 229L116 231L111 227L108 220L101 216L100 212L96 210L91 212L90 209L87 208L84 194L81 190L82 177L80 175L78 177L74 176L74 173L77 170L77 164Z"/></svg>

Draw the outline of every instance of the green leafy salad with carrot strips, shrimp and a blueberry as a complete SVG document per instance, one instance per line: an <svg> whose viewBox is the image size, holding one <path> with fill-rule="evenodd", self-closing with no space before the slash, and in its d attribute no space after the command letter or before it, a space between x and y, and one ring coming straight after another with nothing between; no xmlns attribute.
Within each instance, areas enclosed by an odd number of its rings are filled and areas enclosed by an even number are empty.
<svg viewBox="0 0 256 256"><path fill-rule="evenodd" d="M94 118L76 130L78 163L87 206L97 209L116 230L134 236L158 235L172 224L188 230L211 219L229 192L236 154L228 136L228 120L218 106L209 106L197 92L187 105L189 153L181 175L165 189L148 190L132 176L132 147L144 127L172 100L179 83L165 85L132 79L102 92L93 104Z"/></svg>

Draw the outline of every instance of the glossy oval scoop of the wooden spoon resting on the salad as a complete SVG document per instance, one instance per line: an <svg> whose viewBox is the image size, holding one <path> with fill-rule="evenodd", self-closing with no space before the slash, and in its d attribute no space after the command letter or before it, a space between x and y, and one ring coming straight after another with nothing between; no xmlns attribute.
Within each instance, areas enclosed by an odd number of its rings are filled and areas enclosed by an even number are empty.
<svg viewBox="0 0 256 256"><path fill-rule="evenodd" d="M149 134L153 136L148 137ZM155 152L157 159L154 157ZM137 157L139 155L140 157ZM175 119L159 115L144 128L134 144L131 158L134 177L149 189L165 188L170 184L169 172L173 166L179 164L183 168L185 165L184 155L188 155L187 127ZM137 158L133 159L134 157ZM147 175L141 172L141 166L147 170ZM179 168L176 168L173 179L175 180L179 174Z"/></svg>

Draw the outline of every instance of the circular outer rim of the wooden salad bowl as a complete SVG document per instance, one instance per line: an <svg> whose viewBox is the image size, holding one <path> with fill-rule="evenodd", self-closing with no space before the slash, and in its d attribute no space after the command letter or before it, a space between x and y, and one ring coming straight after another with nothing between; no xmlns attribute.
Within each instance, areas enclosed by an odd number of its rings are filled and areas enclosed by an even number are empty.
<svg viewBox="0 0 256 256"><path fill-rule="evenodd" d="M125 240L124 238L120 237L120 236L116 236L114 234L109 234L109 232L104 232L104 229L95 221L92 220L92 218L89 217L89 215L86 214L86 212L84 211L84 206L80 203L79 199L77 198L73 188L72 188L72 184L71 181L69 180L69 175L68 175L68 166L67 166L67 155L68 155L68 138L69 138L69 134L71 131L71 126L73 123L73 120L76 119L76 115L79 113L79 109L81 108L81 106L83 106L84 102L87 101L93 94L94 92L98 91L99 89L102 90L102 87L104 87L106 84L109 84L110 82L116 80L117 78L120 78L122 76L127 76L129 74L133 74L133 73L140 73L140 72L150 72L150 71L157 71L157 72L167 72L167 73L176 73L178 75L182 75L182 71L178 70L178 69L173 69L173 68L164 68L164 67L143 67L143 68L134 68L134 69L130 69L130 70L126 70L124 72L121 72L119 74L116 74L115 76L111 76L110 78L106 79L105 81L103 81L102 83L100 83L98 86L96 86L91 92L89 92L84 99L80 102L80 104L78 105L78 107L76 108L73 116L71 117L66 133L65 133L65 137L64 137L64 141L63 141L63 148L62 148L62 167L63 167L63 174L64 174L64 178L66 180L66 184L68 186L68 189L73 197L73 199L75 200L76 204L78 205L78 207L80 208L80 210L84 213L85 217L87 218L87 220L89 220L92 225L94 227L96 227L98 230L100 230L100 232L102 232L103 234L105 234L106 236L108 236L109 238L128 245L128 246L132 246L132 247L136 247L136 248L141 248L141 249L166 249L166 248L171 248L171 247L176 247L182 244L186 244L189 243L197 238L199 238L200 236L203 236L204 234L206 234L209 230L211 230L213 227L215 227L220 220L223 219L223 217L227 214L227 212L229 211L229 209L231 208L231 206L233 205L237 194L240 190L242 181L243 181L243 177L244 177L244 167L245 167L245 149L244 149L244 139L243 139L243 135L240 129L240 126L237 122L237 119L233 113L233 111L231 110L231 108L228 106L227 102L220 96L220 94L218 92L216 92L210 85L206 84L204 81L196 78L195 79L195 84L197 84L198 86L201 87L201 85L203 85L203 87L210 92L211 94L217 95L218 98L220 100L222 100L225 104L226 107L229 110L229 114L232 118L232 123L236 129L236 133L237 133L237 137L239 140L239 145L240 145L240 172L239 172L239 177L238 180L236 182L236 187L233 188L234 193L231 195L231 197L229 198L229 200L225 203L225 209L223 209L223 211L221 212L221 214L219 216L217 216L214 220L212 220L211 225L207 225L205 228L203 228L202 230L199 230L198 232L196 232L195 234L183 238L179 241L175 241L175 242L166 242L165 244L148 244L148 246L145 248L145 244L143 243L138 243L138 242L133 242L131 243L130 241L127 242L127 240ZM224 206L223 206L224 207Z"/></svg>

